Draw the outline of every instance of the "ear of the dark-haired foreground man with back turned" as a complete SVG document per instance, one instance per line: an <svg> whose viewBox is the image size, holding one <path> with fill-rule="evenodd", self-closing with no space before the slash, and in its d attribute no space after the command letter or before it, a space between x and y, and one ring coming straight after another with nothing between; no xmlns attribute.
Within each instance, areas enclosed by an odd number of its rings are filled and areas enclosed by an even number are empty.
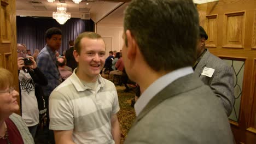
<svg viewBox="0 0 256 144"><path fill-rule="evenodd" d="M125 34L127 38L127 58L132 60L136 55L137 43L130 30L126 30Z"/></svg>

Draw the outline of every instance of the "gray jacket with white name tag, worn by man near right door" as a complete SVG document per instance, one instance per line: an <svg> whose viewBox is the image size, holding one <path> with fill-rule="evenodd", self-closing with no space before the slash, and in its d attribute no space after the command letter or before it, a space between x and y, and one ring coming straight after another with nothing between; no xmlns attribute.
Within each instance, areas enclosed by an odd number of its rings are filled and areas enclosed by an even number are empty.
<svg viewBox="0 0 256 144"><path fill-rule="evenodd" d="M201 75L205 67L215 70L212 77ZM194 74L199 76L203 83L210 86L222 102L226 115L229 116L235 101L233 69L207 50L197 64Z"/></svg>

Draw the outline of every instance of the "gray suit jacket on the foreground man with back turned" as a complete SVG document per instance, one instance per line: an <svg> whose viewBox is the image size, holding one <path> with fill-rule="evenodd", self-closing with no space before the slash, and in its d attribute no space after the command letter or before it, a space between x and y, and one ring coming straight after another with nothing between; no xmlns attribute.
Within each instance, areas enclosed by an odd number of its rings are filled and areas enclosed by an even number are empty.
<svg viewBox="0 0 256 144"><path fill-rule="evenodd" d="M127 143L234 143L218 98L194 74L153 97L135 119Z"/></svg>

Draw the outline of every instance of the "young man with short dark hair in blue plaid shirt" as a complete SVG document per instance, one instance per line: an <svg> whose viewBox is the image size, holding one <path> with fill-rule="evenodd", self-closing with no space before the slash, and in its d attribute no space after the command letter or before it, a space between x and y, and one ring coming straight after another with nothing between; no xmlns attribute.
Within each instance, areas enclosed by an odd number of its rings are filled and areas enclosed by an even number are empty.
<svg viewBox="0 0 256 144"><path fill-rule="evenodd" d="M48 99L51 92L60 85L62 82L61 75L59 70L57 69L56 65L56 56L55 53L57 50L60 49L61 46L61 35L62 31L59 28L53 27L49 28L45 32L45 47L40 51L37 56L37 67L42 71L44 76L48 79L48 85L42 86L44 95L45 95L45 102L46 106L48 106ZM48 114L48 122L46 122L46 127L49 125L49 112ZM54 142L54 135L53 131L49 131L48 133L48 140L49 143Z"/></svg>

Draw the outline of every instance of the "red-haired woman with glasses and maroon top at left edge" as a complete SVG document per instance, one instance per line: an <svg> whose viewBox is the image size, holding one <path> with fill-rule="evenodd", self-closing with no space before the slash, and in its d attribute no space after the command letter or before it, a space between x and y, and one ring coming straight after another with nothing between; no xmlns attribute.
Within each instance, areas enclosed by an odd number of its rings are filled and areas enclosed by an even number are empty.
<svg viewBox="0 0 256 144"><path fill-rule="evenodd" d="M19 93L13 87L13 75L0 68L0 143L34 143L25 122L14 112L19 110Z"/></svg>

